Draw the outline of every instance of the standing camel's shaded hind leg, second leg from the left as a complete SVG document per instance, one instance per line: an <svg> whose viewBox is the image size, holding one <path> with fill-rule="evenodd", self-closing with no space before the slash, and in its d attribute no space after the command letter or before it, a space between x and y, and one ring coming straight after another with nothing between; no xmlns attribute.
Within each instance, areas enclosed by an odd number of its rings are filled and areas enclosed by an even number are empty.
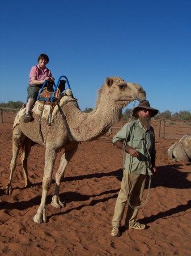
<svg viewBox="0 0 191 256"><path fill-rule="evenodd" d="M27 170L27 159L31 152L31 146L32 141L29 138L26 138L24 141L24 145L22 147L22 156L20 157L22 167L23 167L23 174L24 174L24 181L25 181L25 187L31 187L31 181L28 179L28 170Z"/></svg>

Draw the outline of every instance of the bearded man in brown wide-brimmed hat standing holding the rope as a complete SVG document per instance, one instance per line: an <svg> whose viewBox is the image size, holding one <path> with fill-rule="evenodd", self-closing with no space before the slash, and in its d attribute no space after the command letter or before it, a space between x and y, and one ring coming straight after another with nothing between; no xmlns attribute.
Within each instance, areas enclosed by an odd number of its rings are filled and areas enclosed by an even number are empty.
<svg viewBox="0 0 191 256"><path fill-rule="evenodd" d="M114 146L125 152L124 176L112 219L111 235L114 237L120 236L121 221L127 202L129 205L125 227L128 229L145 229L146 227L137 222L136 218L145 189L146 176L156 172L155 135L151 126L151 117L154 117L158 111L151 108L148 101L140 102L133 110L133 116L138 119L126 123L113 137Z"/></svg>

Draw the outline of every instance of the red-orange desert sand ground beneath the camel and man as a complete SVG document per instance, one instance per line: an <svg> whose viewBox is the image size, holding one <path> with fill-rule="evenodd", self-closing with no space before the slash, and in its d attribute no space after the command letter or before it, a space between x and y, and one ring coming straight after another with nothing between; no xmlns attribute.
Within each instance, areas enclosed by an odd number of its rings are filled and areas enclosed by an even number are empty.
<svg viewBox="0 0 191 256"><path fill-rule="evenodd" d="M0 255L191 255L191 163L169 163L167 156L167 149L177 139L156 139L158 172L152 177L148 202L138 215L147 228L122 228L122 235L115 238L111 220L122 179L122 152L112 146L113 134L79 145L61 184L62 209L50 204L63 151L58 153L46 202L48 222L38 225L33 216L41 200L45 148L36 144L28 159L33 187L24 187L18 158L14 190L5 195L13 119L4 121L0 124ZM191 134L190 126L186 131L181 126L175 130ZM147 193L148 183L144 200Z"/></svg>

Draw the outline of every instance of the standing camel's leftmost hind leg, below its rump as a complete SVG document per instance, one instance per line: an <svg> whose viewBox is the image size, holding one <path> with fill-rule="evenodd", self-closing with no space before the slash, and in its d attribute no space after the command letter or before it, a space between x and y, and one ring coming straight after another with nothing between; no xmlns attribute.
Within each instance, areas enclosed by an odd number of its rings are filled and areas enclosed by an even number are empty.
<svg viewBox="0 0 191 256"><path fill-rule="evenodd" d="M7 187L5 189L6 195L11 195L11 193L12 193L12 185L11 185L12 175L16 168L16 159L18 157L20 147L23 145L25 138L26 137L20 130L19 125L16 126L12 133L12 160L10 163L11 173L10 173L10 177L9 177L9 183L7 184Z"/></svg>

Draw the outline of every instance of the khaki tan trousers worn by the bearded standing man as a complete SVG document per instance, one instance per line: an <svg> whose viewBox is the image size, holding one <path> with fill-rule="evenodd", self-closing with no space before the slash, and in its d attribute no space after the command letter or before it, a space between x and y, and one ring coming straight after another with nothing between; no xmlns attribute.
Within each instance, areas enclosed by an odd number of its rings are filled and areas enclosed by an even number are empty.
<svg viewBox="0 0 191 256"><path fill-rule="evenodd" d="M122 178L121 189L118 193L116 206L114 208L114 215L112 219L112 226L121 226L122 218L124 217L124 211L126 203L131 206L137 207L141 204L143 191L145 189L146 176L143 174L131 174L128 171L124 172L125 178ZM125 225L134 224L139 209L132 209L128 205L128 210L125 218Z"/></svg>

